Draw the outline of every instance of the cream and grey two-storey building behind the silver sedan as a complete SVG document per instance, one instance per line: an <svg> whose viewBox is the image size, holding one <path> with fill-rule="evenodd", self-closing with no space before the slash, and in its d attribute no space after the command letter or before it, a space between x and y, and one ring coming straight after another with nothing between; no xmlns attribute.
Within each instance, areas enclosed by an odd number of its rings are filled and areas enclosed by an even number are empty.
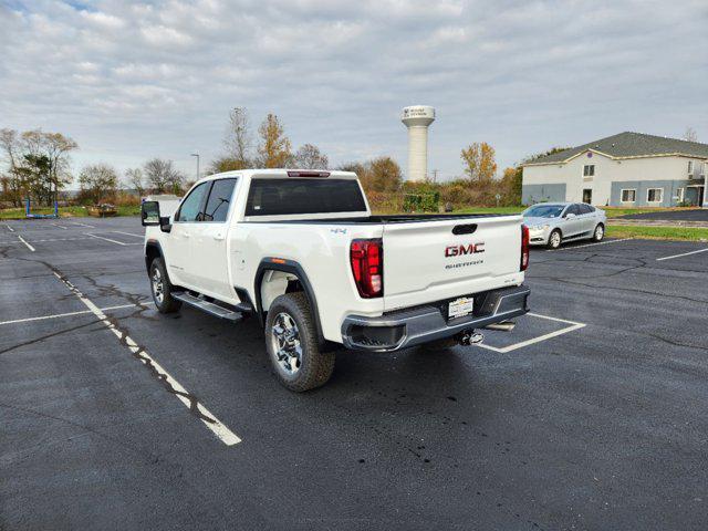
<svg viewBox="0 0 708 531"><path fill-rule="evenodd" d="M523 165L522 201L708 208L708 145L620 133Z"/></svg>

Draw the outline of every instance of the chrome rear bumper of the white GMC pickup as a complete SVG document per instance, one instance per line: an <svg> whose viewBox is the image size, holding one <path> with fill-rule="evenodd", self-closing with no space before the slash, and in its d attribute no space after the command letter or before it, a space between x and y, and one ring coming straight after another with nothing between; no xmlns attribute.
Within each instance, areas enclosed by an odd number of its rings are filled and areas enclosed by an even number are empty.
<svg viewBox="0 0 708 531"><path fill-rule="evenodd" d="M471 315L447 320L448 300L396 310L378 317L350 315L342 323L342 343L347 348L391 352L462 331L499 323L529 311L531 290L524 285L476 293Z"/></svg>

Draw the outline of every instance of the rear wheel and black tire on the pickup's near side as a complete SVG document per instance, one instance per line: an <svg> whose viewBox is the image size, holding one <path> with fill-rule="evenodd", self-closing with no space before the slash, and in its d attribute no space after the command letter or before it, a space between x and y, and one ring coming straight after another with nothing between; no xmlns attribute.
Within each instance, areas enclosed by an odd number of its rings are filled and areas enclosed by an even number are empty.
<svg viewBox="0 0 708 531"><path fill-rule="evenodd" d="M271 303L266 317L266 348L278 379L290 391L320 387L334 371L334 352L320 348L310 302L302 292L285 293Z"/></svg>

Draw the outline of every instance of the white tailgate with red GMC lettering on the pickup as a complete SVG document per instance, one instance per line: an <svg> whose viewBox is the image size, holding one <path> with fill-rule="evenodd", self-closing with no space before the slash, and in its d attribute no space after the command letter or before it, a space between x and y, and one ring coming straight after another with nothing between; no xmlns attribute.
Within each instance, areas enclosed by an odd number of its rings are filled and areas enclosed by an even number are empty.
<svg viewBox="0 0 708 531"><path fill-rule="evenodd" d="M387 223L383 243L385 310L523 280L520 216Z"/></svg>

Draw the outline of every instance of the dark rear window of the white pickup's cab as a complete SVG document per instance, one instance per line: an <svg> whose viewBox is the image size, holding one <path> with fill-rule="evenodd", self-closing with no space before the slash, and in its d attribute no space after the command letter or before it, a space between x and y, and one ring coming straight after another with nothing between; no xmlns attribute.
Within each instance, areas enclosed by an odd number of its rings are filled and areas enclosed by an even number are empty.
<svg viewBox="0 0 708 531"><path fill-rule="evenodd" d="M366 202L354 179L253 179L246 216L361 212Z"/></svg>

